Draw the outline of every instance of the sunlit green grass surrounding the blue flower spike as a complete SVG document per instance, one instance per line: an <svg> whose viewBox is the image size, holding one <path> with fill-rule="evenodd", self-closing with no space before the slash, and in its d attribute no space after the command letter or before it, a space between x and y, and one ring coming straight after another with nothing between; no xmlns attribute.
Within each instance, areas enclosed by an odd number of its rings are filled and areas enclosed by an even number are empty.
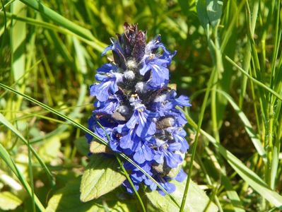
<svg viewBox="0 0 282 212"><path fill-rule="evenodd" d="M12 210L44 211L82 174L87 158L74 141L88 131L88 86L106 61L100 53L127 21L177 49L171 83L191 98L180 208L192 179L219 211L279 211L281 1L220 3L1 0L0 196L9 192ZM108 198L81 211L153 210L141 194L119 204Z"/></svg>

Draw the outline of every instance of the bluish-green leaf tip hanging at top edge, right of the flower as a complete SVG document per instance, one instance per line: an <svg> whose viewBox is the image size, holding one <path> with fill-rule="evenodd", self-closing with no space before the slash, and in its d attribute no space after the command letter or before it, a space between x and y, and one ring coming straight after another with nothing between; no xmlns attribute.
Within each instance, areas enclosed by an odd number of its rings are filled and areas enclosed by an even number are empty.
<svg viewBox="0 0 282 212"><path fill-rule="evenodd" d="M211 25L216 27L221 20L223 1L218 0L206 0L206 12L208 13L208 19Z"/></svg>

